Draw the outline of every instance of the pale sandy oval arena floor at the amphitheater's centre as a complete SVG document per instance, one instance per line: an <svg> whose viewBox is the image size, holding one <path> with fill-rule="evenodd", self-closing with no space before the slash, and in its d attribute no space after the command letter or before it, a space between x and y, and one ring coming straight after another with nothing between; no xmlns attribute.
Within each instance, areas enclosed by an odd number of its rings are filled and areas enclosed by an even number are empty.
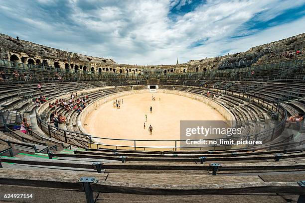
<svg viewBox="0 0 305 203"><path fill-rule="evenodd" d="M152 101L152 95L156 101ZM89 134L117 139L178 140L180 120L225 120L218 111L203 102L178 95L145 93L119 99L124 100L120 109L114 108L113 102L107 102L89 114L83 123ZM153 127L152 135L149 133L150 124ZM133 141L101 141L114 145L134 145ZM157 145L174 146L174 142L137 141L137 146Z"/></svg>

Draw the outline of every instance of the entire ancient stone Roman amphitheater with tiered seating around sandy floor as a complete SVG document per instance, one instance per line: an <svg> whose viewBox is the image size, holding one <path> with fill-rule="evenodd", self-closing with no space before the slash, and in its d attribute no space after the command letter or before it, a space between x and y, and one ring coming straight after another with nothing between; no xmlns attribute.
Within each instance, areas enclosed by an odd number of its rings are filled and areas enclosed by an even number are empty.
<svg viewBox="0 0 305 203"><path fill-rule="evenodd" d="M304 47L138 66L0 34L0 202L305 203Z"/></svg>

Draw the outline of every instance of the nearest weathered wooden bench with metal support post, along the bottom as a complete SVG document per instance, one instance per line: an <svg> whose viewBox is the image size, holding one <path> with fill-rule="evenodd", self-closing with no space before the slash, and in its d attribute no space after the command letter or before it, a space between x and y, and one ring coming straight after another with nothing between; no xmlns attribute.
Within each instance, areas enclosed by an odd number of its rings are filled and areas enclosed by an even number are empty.
<svg viewBox="0 0 305 203"><path fill-rule="evenodd" d="M187 174L179 176L174 174L167 176L152 174L151 177L139 174L118 176L115 174L93 175L52 171L40 174L31 170L0 169L1 185L85 191L87 203L94 202L92 192L188 196L188 198L194 195L262 195L276 193L300 195L299 203L302 203L305 198L305 188L302 185L302 180L299 181L281 182L280 179L278 181L264 182L258 176L221 176L219 178L211 178L211 176L198 175L194 177ZM153 196L149 197L153 198Z"/></svg>

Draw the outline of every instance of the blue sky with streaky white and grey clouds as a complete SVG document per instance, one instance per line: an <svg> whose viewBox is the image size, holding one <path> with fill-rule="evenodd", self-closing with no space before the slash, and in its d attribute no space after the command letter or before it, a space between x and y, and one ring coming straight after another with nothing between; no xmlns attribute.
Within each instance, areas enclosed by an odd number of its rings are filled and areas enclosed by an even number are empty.
<svg viewBox="0 0 305 203"><path fill-rule="evenodd" d="M0 33L120 64L175 64L305 32L305 0L0 0Z"/></svg>

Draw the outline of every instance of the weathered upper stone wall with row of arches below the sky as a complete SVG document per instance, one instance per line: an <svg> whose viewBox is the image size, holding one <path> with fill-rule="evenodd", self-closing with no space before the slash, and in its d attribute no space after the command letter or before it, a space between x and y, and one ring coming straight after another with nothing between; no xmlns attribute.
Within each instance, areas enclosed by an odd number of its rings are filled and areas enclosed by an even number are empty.
<svg viewBox="0 0 305 203"><path fill-rule="evenodd" d="M128 65L117 64L113 59L67 52L25 40L17 40L8 35L0 34L0 59L34 65L55 66L62 69L86 70L95 72L115 72L118 74L142 74L158 71L164 73L202 72L218 69L221 64L234 63L240 60L258 58L255 64L277 62L290 59L305 59L305 54L296 54L305 46L305 33L287 39L252 47L248 51L228 54L225 56L190 60L187 63L175 65ZM291 52L287 57L283 52ZM304 51L301 51L304 52ZM289 53L288 53L289 54ZM253 65L255 65L253 64Z"/></svg>

